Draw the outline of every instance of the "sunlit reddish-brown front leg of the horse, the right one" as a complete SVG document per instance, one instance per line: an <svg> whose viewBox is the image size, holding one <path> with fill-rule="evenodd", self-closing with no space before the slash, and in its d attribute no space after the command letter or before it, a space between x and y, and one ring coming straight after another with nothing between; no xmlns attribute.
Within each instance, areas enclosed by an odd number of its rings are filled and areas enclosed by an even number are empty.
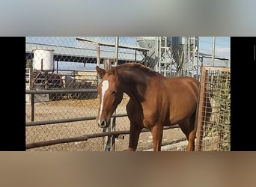
<svg viewBox="0 0 256 187"><path fill-rule="evenodd" d="M153 151L161 151L163 126L155 125L150 128L153 138Z"/></svg>

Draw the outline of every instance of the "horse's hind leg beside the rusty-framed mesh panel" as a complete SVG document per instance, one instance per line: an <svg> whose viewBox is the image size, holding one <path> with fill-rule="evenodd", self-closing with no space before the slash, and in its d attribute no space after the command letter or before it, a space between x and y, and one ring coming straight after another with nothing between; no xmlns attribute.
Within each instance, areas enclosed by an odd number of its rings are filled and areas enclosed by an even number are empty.
<svg viewBox="0 0 256 187"><path fill-rule="evenodd" d="M188 120L184 121L180 124L180 129L186 135L187 140L189 141L186 146L186 151L195 150L195 135L196 130L194 128L195 125L195 114L192 115Z"/></svg>

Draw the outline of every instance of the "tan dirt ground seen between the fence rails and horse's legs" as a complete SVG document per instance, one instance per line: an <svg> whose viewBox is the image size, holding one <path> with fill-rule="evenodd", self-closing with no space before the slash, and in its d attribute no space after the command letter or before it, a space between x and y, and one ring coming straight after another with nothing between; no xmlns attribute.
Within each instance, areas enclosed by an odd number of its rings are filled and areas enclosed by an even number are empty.
<svg viewBox="0 0 256 187"><path fill-rule="evenodd" d="M125 114L125 105L128 98L124 98L118 106L116 113ZM67 99L61 101L36 102L34 105L34 121L63 120L76 117L95 117L99 105L98 99ZM31 105L26 103L26 122L31 122ZM118 117L116 120L116 131L129 130L127 117ZM40 141L49 141L61 138L78 137L82 135L103 132L97 126L95 120L83 120L71 123L56 123L40 126L26 127L26 144ZM180 129L166 129L163 133L162 145L171 144L185 138ZM115 150L123 151L128 147L129 135L124 139L115 139ZM138 141L138 151L147 150L152 147L152 135L150 132L142 132ZM55 144L45 147L28 149L27 151L102 151L103 138L91 138L88 141L77 141L65 144Z"/></svg>

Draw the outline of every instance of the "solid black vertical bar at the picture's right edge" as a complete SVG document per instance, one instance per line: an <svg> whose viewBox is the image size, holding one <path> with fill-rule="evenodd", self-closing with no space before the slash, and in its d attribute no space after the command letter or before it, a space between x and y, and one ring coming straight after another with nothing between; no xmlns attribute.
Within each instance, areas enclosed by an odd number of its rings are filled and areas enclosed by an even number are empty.
<svg viewBox="0 0 256 187"><path fill-rule="evenodd" d="M256 150L256 37L231 37L231 151Z"/></svg>

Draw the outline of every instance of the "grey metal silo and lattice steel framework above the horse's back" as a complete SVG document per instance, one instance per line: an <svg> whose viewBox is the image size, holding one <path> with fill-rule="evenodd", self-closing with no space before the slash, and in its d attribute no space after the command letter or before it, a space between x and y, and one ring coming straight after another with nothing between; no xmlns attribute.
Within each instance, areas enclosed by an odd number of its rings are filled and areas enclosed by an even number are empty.
<svg viewBox="0 0 256 187"><path fill-rule="evenodd" d="M189 74L198 51L198 37L135 37L138 45L147 49L141 61L165 76ZM192 65L191 65L192 64ZM194 68L195 69L195 68ZM191 73L190 73L191 74Z"/></svg>

